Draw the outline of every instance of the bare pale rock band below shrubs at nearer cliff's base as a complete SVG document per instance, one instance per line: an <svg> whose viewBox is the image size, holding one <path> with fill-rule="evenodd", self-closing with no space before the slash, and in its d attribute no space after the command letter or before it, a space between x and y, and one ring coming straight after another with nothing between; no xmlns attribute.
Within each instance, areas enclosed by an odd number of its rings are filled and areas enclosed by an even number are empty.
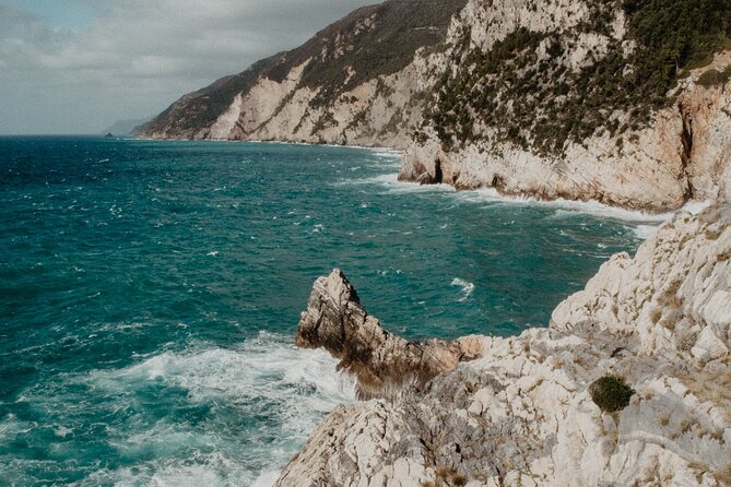
<svg viewBox="0 0 731 487"><path fill-rule="evenodd" d="M497 129L488 126L475 129L480 134L472 142L447 150L427 127L424 139L406 149L399 179L649 211L679 209L692 199L714 200L731 191L731 90L696 81L708 69L726 66L731 66L731 51L692 72L675 95L676 104L659 110L647 126L567 141L559 154L498 141ZM615 117L632 122L627 114Z"/></svg>

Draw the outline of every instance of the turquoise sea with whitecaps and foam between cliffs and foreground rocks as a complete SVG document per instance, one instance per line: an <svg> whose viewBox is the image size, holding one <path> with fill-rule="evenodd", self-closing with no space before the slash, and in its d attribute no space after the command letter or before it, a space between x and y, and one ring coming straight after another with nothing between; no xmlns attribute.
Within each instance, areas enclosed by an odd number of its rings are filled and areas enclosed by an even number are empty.
<svg viewBox="0 0 731 487"><path fill-rule="evenodd" d="M397 171L347 147L0 139L0 484L271 484L353 399L292 345L317 276L342 268L411 338L516 334L647 224Z"/></svg>

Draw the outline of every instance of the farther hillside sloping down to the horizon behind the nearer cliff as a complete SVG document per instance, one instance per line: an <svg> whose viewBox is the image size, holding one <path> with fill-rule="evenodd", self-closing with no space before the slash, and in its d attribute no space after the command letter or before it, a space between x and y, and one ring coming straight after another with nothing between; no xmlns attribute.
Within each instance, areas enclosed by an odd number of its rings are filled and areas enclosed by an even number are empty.
<svg viewBox="0 0 731 487"><path fill-rule="evenodd" d="M184 96L140 133L405 145L425 78L410 66L446 39L467 0L388 0L356 10L297 49Z"/></svg>

